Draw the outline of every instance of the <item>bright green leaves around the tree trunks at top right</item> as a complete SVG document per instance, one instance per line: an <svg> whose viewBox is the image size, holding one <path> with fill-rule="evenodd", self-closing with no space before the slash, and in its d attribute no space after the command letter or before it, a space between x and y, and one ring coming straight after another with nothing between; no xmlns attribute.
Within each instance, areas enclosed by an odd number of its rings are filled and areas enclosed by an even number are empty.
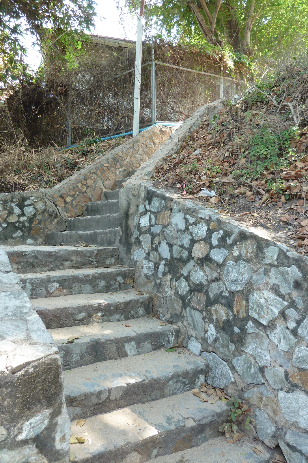
<svg viewBox="0 0 308 463"><path fill-rule="evenodd" d="M126 0L126 6L132 13L139 14L140 0ZM200 3L201 14L202 12ZM216 1L206 2L213 15ZM230 44L236 52L234 33L239 33L243 40L250 1L239 2L225 0L222 2L216 21L215 35L223 41L223 48ZM176 43L189 42L194 45L205 44L198 23L188 7L187 0L149 0L145 2L145 18L148 31L157 31L157 37ZM250 36L250 47L258 58L279 59L294 53L307 50L308 45L308 0L255 0L254 22ZM206 21L206 18L205 18ZM236 25L230 29L230 23ZM209 49L212 47L207 44ZM231 48L232 48L231 47ZM242 58L240 58L242 60ZM247 65L255 60L248 58Z"/></svg>

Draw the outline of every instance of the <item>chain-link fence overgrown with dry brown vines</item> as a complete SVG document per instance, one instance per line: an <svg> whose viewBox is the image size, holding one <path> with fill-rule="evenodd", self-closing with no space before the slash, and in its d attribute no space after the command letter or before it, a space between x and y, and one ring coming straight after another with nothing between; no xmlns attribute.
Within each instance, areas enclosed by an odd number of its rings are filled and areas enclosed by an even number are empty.
<svg viewBox="0 0 308 463"><path fill-rule="evenodd" d="M35 79L21 76L20 83L1 88L0 142L65 147L132 131L135 48L95 47L85 46L74 63L47 54ZM246 88L241 79L247 69L234 69L239 80L229 79L221 56L163 42L143 44L142 53L140 128L182 121L199 106Z"/></svg>

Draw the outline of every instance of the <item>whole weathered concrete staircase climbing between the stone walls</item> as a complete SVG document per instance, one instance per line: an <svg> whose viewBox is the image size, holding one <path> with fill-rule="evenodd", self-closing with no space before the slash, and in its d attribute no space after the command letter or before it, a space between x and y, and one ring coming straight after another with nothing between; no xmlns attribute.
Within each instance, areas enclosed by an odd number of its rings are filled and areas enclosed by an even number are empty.
<svg viewBox="0 0 308 463"><path fill-rule="evenodd" d="M85 439L71 445L71 460L226 461L218 427L228 406L191 393L205 381L207 363L184 349L165 351L178 343L179 327L153 316L151 296L133 289L134 269L118 264L117 198L114 190L86 204L85 217L48 234L47 246L5 247L60 352L72 435ZM234 463L269 461L248 444L243 454L241 442L231 446Z"/></svg>

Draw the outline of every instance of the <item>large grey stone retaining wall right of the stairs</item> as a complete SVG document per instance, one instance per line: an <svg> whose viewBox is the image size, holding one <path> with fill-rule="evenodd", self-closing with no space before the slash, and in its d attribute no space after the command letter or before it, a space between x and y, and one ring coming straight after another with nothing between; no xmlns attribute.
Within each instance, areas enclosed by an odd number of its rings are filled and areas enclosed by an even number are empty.
<svg viewBox="0 0 308 463"><path fill-rule="evenodd" d="M207 382L249 402L259 438L279 442L288 463L305 462L308 259L153 187L155 164L192 121L121 190L120 259L135 266L135 287L153 294L160 318L181 326L182 345L206 359Z"/></svg>

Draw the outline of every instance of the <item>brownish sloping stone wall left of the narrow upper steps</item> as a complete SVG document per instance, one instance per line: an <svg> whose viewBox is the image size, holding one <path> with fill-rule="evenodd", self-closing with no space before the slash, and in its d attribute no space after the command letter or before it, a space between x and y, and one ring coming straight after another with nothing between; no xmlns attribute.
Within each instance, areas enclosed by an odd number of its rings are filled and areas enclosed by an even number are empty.
<svg viewBox="0 0 308 463"><path fill-rule="evenodd" d="M104 190L139 168L175 131L155 125L111 150L54 188L0 194L0 244L43 244L46 233L66 230L65 219L83 214Z"/></svg>

